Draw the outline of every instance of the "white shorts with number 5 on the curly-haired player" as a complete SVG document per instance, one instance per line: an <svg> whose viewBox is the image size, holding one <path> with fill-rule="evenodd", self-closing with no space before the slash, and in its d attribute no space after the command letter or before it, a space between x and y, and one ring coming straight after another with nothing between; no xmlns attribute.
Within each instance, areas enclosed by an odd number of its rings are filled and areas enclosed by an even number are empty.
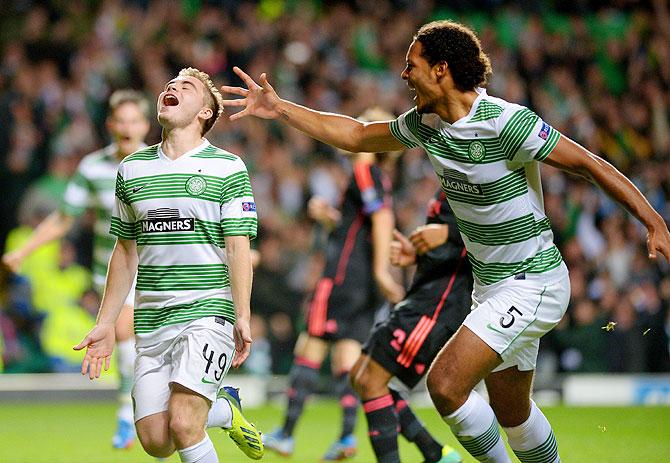
<svg viewBox="0 0 670 463"><path fill-rule="evenodd" d="M542 274L509 278L472 292L472 311L463 324L500 354L493 371L535 369L540 338L561 321L570 301L565 264Z"/></svg>

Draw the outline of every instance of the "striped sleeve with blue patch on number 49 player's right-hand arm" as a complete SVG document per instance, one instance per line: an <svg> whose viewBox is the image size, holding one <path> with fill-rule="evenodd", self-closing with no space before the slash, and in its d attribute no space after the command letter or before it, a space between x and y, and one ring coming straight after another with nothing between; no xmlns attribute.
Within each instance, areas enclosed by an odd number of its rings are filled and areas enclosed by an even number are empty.
<svg viewBox="0 0 670 463"><path fill-rule="evenodd" d="M223 236L247 235L253 239L258 229L256 202L244 162L238 159L236 164L240 169L223 179L221 230Z"/></svg>

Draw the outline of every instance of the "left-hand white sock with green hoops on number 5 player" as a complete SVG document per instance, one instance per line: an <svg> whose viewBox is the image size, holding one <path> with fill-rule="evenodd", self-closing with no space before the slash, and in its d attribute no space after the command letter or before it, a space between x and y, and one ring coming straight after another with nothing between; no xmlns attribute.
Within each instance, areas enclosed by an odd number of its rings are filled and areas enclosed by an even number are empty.
<svg viewBox="0 0 670 463"><path fill-rule="evenodd" d="M443 416L463 448L478 461L512 463L491 406L475 391L454 413Z"/></svg>

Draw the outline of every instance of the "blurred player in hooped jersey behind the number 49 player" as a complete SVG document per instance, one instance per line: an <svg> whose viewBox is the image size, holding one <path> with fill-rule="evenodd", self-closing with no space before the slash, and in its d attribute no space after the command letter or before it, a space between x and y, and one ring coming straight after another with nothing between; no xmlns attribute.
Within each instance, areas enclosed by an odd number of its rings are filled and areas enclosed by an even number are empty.
<svg viewBox="0 0 670 463"><path fill-rule="evenodd" d="M91 208L96 218L93 229L93 285L98 294L102 295L107 263L114 248L109 226L114 205L116 171L123 158L146 146L143 140L149 131L149 102L140 92L117 90L109 98L106 125L112 143L82 159L67 186L61 209L44 219L21 248L3 256L2 260L15 272L36 249L65 236L72 229L76 218ZM130 291L116 322L120 378L118 425L112 439L115 448L128 448L135 440L130 399L135 363L133 299L134 292Z"/></svg>

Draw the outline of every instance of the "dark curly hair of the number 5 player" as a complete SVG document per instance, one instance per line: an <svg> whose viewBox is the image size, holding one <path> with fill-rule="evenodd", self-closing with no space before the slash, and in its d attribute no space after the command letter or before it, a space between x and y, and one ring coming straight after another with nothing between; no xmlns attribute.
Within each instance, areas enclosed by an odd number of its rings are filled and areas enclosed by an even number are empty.
<svg viewBox="0 0 670 463"><path fill-rule="evenodd" d="M444 61L454 85L461 91L484 87L493 70L474 31L454 21L433 21L421 26L414 40L422 45L421 56L433 66Z"/></svg>

